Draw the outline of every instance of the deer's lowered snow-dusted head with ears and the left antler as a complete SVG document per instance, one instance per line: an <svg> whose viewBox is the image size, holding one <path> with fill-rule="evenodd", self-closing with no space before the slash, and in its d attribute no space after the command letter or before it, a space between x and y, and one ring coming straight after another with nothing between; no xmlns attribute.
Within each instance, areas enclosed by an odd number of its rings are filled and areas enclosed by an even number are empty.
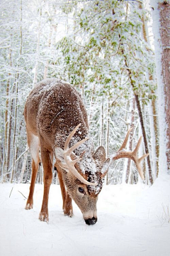
<svg viewBox="0 0 170 256"><path fill-rule="evenodd" d="M99 146L95 153L91 151L91 141L88 141L88 137L69 148L69 142L80 125L69 134L64 149L60 146L55 147L55 158L63 169L63 178L69 195L79 206L86 224L93 225L97 221L98 194L101 192L110 159L106 159L103 146ZM79 156L74 154L75 149Z"/></svg>

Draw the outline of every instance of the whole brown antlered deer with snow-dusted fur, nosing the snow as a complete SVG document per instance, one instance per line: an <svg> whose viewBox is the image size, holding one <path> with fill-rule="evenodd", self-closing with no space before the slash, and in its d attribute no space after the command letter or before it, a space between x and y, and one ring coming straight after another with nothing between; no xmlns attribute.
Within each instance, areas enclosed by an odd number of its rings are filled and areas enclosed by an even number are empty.
<svg viewBox="0 0 170 256"><path fill-rule="evenodd" d="M57 169L62 192L64 215L72 217L72 200L83 214L87 225L97 222L98 195L112 161L129 158L135 161L142 180L141 161L137 156L142 137L134 151L125 149L131 129L120 149L106 158L103 146L94 150L89 137L89 124L79 92L67 82L49 78L39 82L28 95L24 108L27 141L32 158L32 175L26 210L33 208L33 193L42 162L44 193L39 219L48 222L48 198L52 183L52 168Z"/></svg>

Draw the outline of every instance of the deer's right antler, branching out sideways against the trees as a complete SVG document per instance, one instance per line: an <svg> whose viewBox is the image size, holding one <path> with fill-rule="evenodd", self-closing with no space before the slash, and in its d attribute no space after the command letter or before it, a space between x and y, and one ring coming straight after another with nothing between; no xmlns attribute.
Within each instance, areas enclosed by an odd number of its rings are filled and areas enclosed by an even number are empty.
<svg viewBox="0 0 170 256"><path fill-rule="evenodd" d="M144 180L145 177L144 177L144 174L142 172L141 161L143 159L145 159L145 157L147 157L149 154L145 154L145 155L141 156L140 158L138 158L138 156L137 156L137 152L139 151L140 144L142 142L142 136L140 137L139 141L137 142L137 146L135 147L134 151L126 151L125 150L125 146L127 145L128 138L129 138L131 130L132 130L132 128L130 128L128 130L122 146L120 147L118 152L115 154L115 156L113 156L113 161L117 160L117 159L120 159L120 158L132 159L133 161L135 161L135 164L137 166L137 170L139 171L140 177L142 178L142 180Z"/></svg>

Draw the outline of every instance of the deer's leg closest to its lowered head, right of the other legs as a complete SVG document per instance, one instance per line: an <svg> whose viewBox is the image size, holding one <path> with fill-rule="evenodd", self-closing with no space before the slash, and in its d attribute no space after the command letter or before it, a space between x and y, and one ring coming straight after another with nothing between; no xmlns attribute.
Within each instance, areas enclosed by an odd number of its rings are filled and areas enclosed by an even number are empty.
<svg viewBox="0 0 170 256"><path fill-rule="evenodd" d="M55 168L57 169L57 174L60 181L60 188L62 192L62 201L63 201L62 209L64 211L64 215L68 215L72 217L73 215L72 198L70 198L69 194L66 192L64 181L62 179L62 169L57 164L57 162L55 163Z"/></svg>

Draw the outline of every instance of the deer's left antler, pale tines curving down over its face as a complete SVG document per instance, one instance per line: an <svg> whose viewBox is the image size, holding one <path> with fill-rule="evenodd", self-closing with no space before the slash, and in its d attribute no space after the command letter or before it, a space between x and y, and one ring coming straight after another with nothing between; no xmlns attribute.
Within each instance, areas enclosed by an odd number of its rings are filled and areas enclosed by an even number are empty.
<svg viewBox="0 0 170 256"><path fill-rule="evenodd" d="M77 132L77 129L80 127L80 125L81 124L78 124L77 127L69 134L69 137L67 137L67 140L64 144L64 160L67 164L67 167L69 167L69 170L72 172L72 174L74 174L74 176L76 176L79 179L79 181L81 181L86 185L96 186L97 185L96 183L91 183L89 181L86 181L86 179L83 176L81 176L81 174L79 174L79 172L75 168L74 165L81 160L81 156L77 157L77 159L74 159L74 160L72 160L70 157L74 149L77 149L78 146L80 146L81 144L86 142L87 139L89 139L88 137L86 137L85 139L82 139L80 142L77 142L77 144L74 144L71 148L69 148L69 142L74 136L75 132Z"/></svg>

